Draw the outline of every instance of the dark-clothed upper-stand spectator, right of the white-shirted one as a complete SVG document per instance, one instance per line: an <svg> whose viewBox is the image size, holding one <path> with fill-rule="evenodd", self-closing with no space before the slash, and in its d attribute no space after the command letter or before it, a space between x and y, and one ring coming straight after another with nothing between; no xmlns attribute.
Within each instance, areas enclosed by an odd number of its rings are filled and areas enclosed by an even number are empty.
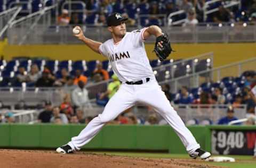
<svg viewBox="0 0 256 168"><path fill-rule="evenodd" d="M223 5L219 6L219 11L215 12L213 16L213 21L220 22L229 22L230 19L230 11L226 9Z"/></svg>

